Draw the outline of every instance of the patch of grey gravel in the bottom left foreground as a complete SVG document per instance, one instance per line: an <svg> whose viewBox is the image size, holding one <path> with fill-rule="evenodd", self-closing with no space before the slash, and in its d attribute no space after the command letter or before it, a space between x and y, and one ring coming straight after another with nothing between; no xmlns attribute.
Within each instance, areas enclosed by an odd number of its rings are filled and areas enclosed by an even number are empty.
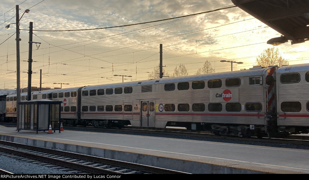
<svg viewBox="0 0 309 180"><path fill-rule="evenodd" d="M6 156L0 156L0 162L0 169L9 171L14 174L72 174L58 169L28 163Z"/></svg>

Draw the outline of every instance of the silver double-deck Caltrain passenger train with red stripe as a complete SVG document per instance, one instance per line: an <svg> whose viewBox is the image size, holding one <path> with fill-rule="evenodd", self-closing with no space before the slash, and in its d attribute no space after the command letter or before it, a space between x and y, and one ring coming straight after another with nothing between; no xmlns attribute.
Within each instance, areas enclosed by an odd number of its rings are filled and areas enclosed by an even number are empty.
<svg viewBox="0 0 309 180"><path fill-rule="evenodd" d="M275 137L309 132L309 64L50 89L66 126L185 127L216 135ZM21 101L27 101L21 93ZM16 94L5 118L16 119Z"/></svg>

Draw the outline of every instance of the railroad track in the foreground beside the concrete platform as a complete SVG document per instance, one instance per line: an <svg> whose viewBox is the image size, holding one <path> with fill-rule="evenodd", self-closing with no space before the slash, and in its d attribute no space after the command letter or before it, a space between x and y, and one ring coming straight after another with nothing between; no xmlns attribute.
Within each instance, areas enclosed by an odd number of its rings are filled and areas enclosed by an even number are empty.
<svg viewBox="0 0 309 180"><path fill-rule="evenodd" d="M117 161L0 140L0 155L45 165L72 174L189 174L170 169Z"/></svg>

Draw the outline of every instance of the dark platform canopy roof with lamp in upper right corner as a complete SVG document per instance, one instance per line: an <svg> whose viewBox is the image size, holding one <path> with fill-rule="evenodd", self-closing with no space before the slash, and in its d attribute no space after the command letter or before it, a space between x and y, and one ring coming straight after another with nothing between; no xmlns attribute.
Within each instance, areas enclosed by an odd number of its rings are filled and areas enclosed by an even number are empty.
<svg viewBox="0 0 309 180"><path fill-rule="evenodd" d="M309 40L309 0L231 1L283 35L270 39L267 44L279 45L290 40L293 45Z"/></svg>

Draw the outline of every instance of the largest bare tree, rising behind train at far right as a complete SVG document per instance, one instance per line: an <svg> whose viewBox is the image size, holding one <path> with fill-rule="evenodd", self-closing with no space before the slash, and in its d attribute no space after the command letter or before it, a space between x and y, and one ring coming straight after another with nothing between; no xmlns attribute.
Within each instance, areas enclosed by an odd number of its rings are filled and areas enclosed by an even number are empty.
<svg viewBox="0 0 309 180"><path fill-rule="evenodd" d="M258 58L256 64L262 67L289 65L289 62L281 57L278 48L275 47L265 49Z"/></svg>

